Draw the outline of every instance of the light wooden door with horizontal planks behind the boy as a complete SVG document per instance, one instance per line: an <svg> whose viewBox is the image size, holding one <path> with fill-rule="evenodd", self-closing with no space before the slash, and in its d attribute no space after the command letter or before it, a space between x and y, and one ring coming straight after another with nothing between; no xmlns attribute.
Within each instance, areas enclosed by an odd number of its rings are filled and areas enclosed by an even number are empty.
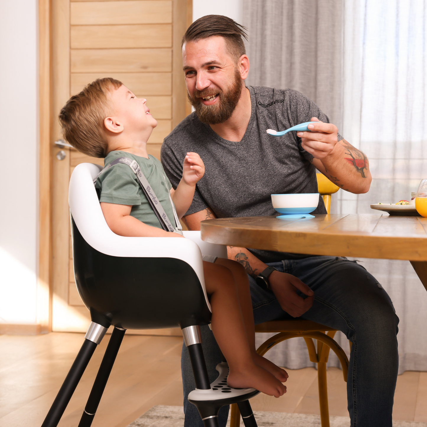
<svg viewBox="0 0 427 427"><path fill-rule="evenodd" d="M158 120L148 152L160 157L163 138L189 112L182 73L181 38L191 23L190 0L51 2L53 141L61 138L58 113L67 99L99 77L113 77L145 97ZM52 142L53 142L52 141ZM73 277L68 182L82 162L103 160L53 145L52 164L52 329L85 331L89 313ZM145 332L147 333L147 331ZM176 334L176 330L156 330Z"/></svg>

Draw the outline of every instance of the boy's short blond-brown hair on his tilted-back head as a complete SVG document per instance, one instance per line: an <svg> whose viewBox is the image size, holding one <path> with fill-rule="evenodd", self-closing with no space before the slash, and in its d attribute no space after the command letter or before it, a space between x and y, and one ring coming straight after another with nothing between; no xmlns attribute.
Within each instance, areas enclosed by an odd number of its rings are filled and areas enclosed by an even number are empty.
<svg viewBox="0 0 427 427"><path fill-rule="evenodd" d="M74 148L92 157L105 157L107 138L104 119L108 107L107 94L120 88L122 84L111 77L97 79L68 99L59 113L59 123L65 140Z"/></svg>

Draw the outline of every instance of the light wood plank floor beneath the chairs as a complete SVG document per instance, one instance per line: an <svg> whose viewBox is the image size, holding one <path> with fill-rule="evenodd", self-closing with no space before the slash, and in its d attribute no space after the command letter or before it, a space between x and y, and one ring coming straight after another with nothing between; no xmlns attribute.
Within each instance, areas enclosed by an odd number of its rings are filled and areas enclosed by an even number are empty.
<svg viewBox="0 0 427 427"><path fill-rule="evenodd" d="M80 346L83 334L0 336L0 427L41 425ZM88 398L106 336L92 357L59 426L75 427ZM129 335L123 339L94 427L125 427L154 405L182 405L182 338ZM261 411L318 414L316 371L289 371L288 392L275 399L258 395ZM346 389L339 369L328 370L330 415L348 416ZM427 421L427 372L398 377L393 418Z"/></svg>

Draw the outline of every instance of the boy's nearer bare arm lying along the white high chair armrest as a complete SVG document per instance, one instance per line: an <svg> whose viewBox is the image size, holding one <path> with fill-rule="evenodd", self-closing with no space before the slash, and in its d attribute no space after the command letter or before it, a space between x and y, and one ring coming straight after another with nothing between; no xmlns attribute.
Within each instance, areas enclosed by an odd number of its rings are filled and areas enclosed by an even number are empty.
<svg viewBox="0 0 427 427"><path fill-rule="evenodd" d="M139 219L130 215L132 206L101 202L101 209L108 227L113 233L119 236L183 237L181 234L171 233L161 228L144 224Z"/></svg>

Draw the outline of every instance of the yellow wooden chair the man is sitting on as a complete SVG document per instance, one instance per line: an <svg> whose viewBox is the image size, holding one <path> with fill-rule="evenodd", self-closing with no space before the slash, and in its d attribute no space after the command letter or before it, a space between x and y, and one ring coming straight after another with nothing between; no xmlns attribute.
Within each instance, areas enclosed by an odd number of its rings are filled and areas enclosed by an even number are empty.
<svg viewBox="0 0 427 427"><path fill-rule="evenodd" d="M330 196L339 190L335 184L329 181L322 173L317 173L317 185L319 193L323 197L326 211L330 212ZM329 407L328 407L328 385L326 381L326 363L328 362L329 351L332 351L338 356L342 366L342 375L344 381L347 381L348 358L342 348L333 339L336 330L328 328L328 326L320 325L319 323L311 322L303 319L290 320L272 320L255 326L255 332L277 332L276 335L267 339L257 349L257 353L263 356L266 352L274 347L279 342L286 339L302 336L307 344L310 361L317 363L317 382L319 386L319 405L320 405L320 420L322 427L330 427L329 425ZM317 340L317 351L313 339ZM286 395L284 396L286 398ZM240 412L237 404L231 405L231 420L230 427L240 426Z"/></svg>

